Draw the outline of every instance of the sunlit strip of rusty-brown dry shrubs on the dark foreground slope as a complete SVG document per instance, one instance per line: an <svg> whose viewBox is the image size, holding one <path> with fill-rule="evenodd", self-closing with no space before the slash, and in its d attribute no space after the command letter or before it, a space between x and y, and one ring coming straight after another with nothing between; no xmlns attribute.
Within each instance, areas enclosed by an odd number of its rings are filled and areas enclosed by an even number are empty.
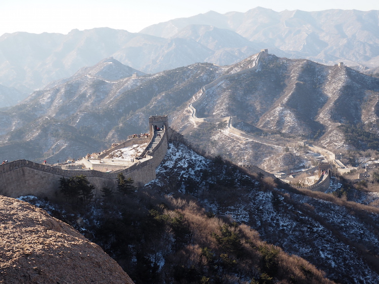
<svg viewBox="0 0 379 284"><path fill-rule="evenodd" d="M170 198L168 201L172 209L183 214L191 229L192 241L196 243L188 244L174 257L175 262L187 269L209 270L219 261L222 269L218 275L222 275L222 282L249 282L246 278L250 277L252 283L333 283L304 259L262 241L258 232L246 224L229 224L217 217L210 218L193 200ZM204 252L206 249L208 255ZM185 261L183 256L187 258ZM238 267L237 275L229 272L233 265Z"/></svg>

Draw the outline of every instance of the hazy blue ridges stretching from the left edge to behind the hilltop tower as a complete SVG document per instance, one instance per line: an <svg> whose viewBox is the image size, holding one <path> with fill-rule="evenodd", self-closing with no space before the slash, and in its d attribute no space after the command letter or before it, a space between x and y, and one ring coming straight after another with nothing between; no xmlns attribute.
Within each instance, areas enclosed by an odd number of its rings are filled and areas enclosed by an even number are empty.
<svg viewBox="0 0 379 284"><path fill-rule="evenodd" d="M191 38L165 39L109 28L72 30L67 35L4 34L0 37L3 70L0 83L31 92L52 81L71 77L77 70L104 58L113 57L143 73L156 73L206 62L214 55L214 50ZM222 60L228 64L236 60L235 55L229 57L223 56Z"/></svg>

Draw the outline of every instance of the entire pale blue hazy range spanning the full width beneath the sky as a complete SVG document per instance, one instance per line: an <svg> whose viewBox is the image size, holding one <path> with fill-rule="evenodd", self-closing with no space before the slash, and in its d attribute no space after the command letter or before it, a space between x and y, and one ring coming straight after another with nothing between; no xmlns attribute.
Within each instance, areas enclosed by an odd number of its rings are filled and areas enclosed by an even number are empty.
<svg viewBox="0 0 379 284"><path fill-rule="evenodd" d="M197 62L230 65L262 48L287 58L372 68L379 65L378 15L376 10L255 8L246 13L208 12L175 19L139 33L96 28L67 35L4 34L0 37L0 84L31 93L111 56L141 72L156 73Z"/></svg>

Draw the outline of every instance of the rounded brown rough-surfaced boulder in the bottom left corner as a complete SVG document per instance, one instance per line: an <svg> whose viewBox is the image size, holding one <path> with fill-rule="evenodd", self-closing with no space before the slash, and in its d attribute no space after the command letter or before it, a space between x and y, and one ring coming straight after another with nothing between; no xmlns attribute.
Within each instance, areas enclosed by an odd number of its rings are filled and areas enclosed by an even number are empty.
<svg viewBox="0 0 379 284"><path fill-rule="evenodd" d="M0 197L0 283L133 283L98 245L44 210Z"/></svg>

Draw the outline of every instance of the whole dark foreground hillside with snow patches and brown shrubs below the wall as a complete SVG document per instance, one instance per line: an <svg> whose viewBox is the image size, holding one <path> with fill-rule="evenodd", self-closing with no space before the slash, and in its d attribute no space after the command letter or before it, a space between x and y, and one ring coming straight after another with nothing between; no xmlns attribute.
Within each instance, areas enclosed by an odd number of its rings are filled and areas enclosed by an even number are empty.
<svg viewBox="0 0 379 284"><path fill-rule="evenodd" d="M86 210L50 211L89 233L136 283L379 280L376 193L339 177L329 193L297 190L171 138L145 187L127 195L109 187Z"/></svg>

